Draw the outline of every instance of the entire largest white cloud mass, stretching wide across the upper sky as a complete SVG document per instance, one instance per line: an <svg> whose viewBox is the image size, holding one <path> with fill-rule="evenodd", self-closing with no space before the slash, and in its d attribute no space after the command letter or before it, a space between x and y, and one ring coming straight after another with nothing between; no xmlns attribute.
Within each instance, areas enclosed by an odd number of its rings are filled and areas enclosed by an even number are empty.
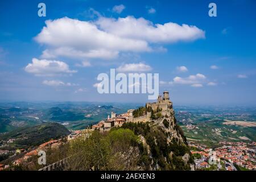
<svg viewBox="0 0 256 182"><path fill-rule="evenodd" d="M35 40L46 46L44 59L58 56L113 59L120 52L150 52L161 47L160 43L201 38L205 38L205 32L187 24L153 24L133 16L118 19L100 16L94 22L67 17L47 20ZM152 45L155 43L156 46Z"/></svg>

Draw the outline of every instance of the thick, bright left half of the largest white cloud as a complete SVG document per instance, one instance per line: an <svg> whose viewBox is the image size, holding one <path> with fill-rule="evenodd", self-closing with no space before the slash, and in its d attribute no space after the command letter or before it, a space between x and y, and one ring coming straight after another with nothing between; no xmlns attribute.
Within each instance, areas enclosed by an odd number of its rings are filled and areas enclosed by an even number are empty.
<svg viewBox="0 0 256 182"><path fill-rule="evenodd" d="M46 27L35 40L51 47L43 52L42 57L46 58L67 56L112 59L119 51L151 50L146 41L121 38L100 30L92 22L67 17L47 20Z"/></svg>

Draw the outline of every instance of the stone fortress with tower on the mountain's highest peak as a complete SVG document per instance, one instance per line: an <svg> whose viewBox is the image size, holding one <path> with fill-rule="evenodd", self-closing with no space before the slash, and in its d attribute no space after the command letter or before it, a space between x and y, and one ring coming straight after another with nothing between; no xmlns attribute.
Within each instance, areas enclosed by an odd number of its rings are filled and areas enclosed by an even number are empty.
<svg viewBox="0 0 256 182"><path fill-rule="evenodd" d="M159 95L157 102L147 103L146 107L151 107L153 110L156 110L157 108L159 108L159 109L162 109L163 111L172 108L172 102L170 101L169 92L164 91L163 98L162 96Z"/></svg>

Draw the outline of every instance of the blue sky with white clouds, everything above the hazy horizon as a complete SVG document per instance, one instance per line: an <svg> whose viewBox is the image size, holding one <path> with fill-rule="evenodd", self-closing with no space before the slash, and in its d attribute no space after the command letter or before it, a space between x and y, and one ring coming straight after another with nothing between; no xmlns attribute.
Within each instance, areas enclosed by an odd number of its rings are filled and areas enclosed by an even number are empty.
<svg viewBox="0 0 256 182"><path fill-rule="evenodd" d="M46 17L38 16L40 2ZM217 17L208 15L210 2ZM0 100L146 102L147 94L98 94L93 86L99 73L134 66L159 73L160 92L174 104L255 104L255 7L253 0L1 1Z"/></svg>

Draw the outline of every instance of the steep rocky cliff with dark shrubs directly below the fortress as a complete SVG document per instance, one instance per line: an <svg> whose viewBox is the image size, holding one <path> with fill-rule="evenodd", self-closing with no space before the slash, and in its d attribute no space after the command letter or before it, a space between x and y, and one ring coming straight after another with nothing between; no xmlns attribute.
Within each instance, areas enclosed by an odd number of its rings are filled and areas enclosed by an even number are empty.
<svg viewBox="0 0 256 182"><path fill-rule="evenodd" d="M191 170L193 157L182 129L177 125L174 109L160 111L162 117L151 119L145 125L150 127L147 134L139 139L150 160L147 170Z"/></svg>

